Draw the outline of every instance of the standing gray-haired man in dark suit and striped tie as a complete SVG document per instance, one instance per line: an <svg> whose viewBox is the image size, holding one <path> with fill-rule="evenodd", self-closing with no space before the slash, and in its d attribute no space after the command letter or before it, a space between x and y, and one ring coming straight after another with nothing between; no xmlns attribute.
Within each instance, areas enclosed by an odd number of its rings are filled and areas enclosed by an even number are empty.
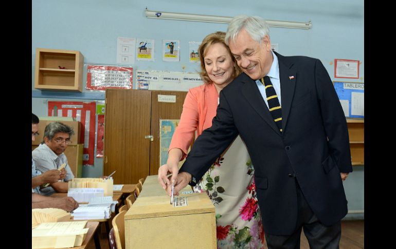
<svg viewBox="0 0 396 249"><path fill-rule="evenodd" d="M168 194L169 180L175 193L194 185L240 134L255 167L268 248L299 248L302 227L310 247L338 248L352 166L329 74L317 59L273 52L261 17L234 17L225 40L244 73L220 92L212 127L181 169L159 168L159 183Z"/></svg>

